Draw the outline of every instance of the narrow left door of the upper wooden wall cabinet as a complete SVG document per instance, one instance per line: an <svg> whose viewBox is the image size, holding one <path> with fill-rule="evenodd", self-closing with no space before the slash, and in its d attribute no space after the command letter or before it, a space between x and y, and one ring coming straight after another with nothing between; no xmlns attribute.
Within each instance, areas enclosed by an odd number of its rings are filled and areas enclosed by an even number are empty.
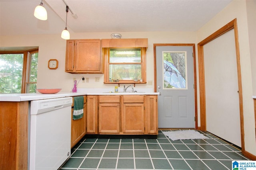
<svg viewBox="0 0 256 170"><path fill-rule="evenodd" d="M67 40L66 42L66 72L74 70L74 53L75 53L75 41Z"/></svg>

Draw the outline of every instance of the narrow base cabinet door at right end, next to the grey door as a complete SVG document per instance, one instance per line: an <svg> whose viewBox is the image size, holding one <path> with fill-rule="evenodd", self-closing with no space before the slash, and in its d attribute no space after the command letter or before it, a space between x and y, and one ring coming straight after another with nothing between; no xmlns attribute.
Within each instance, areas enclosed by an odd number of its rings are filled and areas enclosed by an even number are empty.
<svg viewBox="0 0 256 170"><path fill-rule="evenodd" d="M157 96L147 96L147 133L158 134Z"/></svg>

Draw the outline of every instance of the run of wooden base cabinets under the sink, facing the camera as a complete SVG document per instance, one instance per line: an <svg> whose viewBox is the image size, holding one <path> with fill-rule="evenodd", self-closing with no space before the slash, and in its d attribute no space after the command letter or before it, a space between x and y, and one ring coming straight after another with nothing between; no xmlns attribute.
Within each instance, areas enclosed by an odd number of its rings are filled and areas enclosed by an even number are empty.
<svg viewBox="0 0 256 170"><path fill-rule="evenodd" d="M158 134L157 95L87 96L87 134Z"/></svg>

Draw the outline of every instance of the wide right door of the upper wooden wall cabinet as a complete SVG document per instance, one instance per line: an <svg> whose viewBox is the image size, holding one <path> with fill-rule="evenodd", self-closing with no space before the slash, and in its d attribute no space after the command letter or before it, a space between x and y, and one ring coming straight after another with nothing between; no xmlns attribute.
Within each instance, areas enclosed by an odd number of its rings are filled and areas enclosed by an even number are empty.
<svg viewBox="0 0 256 170"><path fill-rule="evenodd" d="M99 39L76 41L76 71L102 73L101 44Z"/></svg>

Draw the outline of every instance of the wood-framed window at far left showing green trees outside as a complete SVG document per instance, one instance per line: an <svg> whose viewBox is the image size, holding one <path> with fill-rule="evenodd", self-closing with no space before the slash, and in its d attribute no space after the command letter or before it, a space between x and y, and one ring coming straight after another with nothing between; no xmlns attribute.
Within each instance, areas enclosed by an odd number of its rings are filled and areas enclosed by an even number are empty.
<svg viewBox="0 0 256 170"><path fill-rule="evenodd" d="M24 68L27 68L24 70L25 76L22 75ZM37 70L38 49L26 53L0 52L0 93L35 93Z"/></svg>

